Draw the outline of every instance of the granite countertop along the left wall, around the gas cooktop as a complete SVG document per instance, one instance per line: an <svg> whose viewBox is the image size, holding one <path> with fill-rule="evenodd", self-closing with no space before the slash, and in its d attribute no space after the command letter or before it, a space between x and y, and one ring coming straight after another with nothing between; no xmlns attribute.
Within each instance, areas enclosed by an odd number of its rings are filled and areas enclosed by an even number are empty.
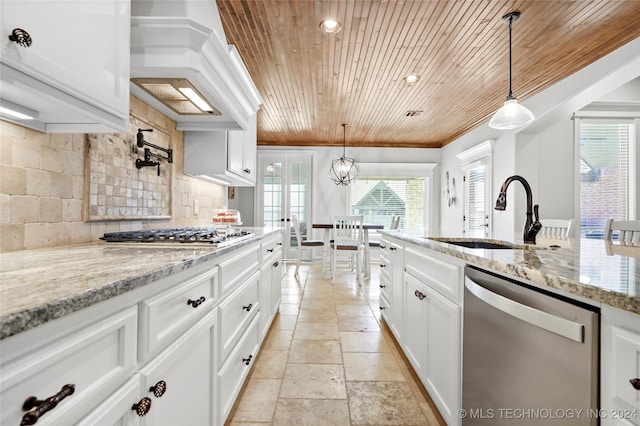
<svg viewBox="0 0 640 426"><path fill-rule="evenodd" d="M97 242L0 255L0 339L207 262L280 229L222 248Z"/></svg>

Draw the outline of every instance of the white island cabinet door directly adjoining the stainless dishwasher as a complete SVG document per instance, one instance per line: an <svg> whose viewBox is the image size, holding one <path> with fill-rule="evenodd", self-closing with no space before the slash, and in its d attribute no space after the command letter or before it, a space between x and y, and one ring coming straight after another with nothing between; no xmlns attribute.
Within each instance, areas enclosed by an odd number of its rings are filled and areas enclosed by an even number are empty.
<svg viewBox="0 0 640 426"><path fill-rule="evenodd" d="M462 308L425 288L427 360L425 386L448 424L459 422Z"/></svg>

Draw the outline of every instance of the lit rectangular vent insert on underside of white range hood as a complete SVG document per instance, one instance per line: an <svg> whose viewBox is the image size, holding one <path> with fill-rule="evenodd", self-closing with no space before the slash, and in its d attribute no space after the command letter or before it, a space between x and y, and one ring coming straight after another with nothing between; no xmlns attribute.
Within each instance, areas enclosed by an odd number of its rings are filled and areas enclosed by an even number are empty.
<svg viewBox="0 0 640 426"><path fill-rule="evenodd" d="M184 78L132 78L142 90L180 115L222 115Z"/></svg>

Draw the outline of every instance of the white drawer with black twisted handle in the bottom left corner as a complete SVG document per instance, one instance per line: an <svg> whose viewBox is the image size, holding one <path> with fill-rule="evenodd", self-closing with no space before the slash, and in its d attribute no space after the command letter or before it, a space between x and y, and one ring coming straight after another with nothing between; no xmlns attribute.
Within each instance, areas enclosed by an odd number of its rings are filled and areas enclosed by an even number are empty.
<svg viewBox="0 0 640 426"><path fill-rule="evenodd" d="M75 385L74 393L44 414L38 425L72 424L86 415L133 372L137 320L132 306L3 363L0 424L20 424L28 397L44 400L67 384Z"/></svg>

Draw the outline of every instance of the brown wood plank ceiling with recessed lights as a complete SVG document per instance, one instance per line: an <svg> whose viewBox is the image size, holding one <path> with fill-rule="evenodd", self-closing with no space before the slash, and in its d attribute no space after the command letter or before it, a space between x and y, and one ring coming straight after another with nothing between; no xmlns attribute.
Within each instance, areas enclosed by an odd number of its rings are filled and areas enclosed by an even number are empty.
<svg viewBox="0 0 640 426"><path fill-rule="evenodd" d="M437 148L640 36L640 3L217 0L264 104L258 143ZM320 21L342 23L325 34ZM403 78L420 80L407 85Z"/></svg>

